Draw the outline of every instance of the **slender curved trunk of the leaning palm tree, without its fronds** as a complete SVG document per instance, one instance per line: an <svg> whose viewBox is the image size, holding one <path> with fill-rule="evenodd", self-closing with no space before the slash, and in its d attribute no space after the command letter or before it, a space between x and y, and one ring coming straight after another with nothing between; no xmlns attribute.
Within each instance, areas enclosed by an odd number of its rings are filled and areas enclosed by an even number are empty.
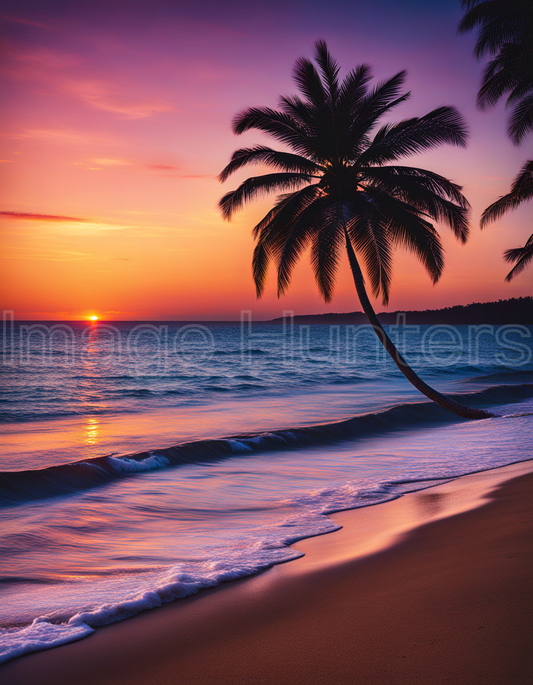
<svg viewBox="0 0 533 685"><path fill-rule="evenodd" d="M464 419L488 419L491 416L494 416L494 414L484 411L483 409L471 409L470 407L466 407L464 404L460 404L459 402L446 397L446 395L442 395L437 390L431 388L427 383L424 383L424 381L417 376L409 364L407 364L392 340L385 332L385 329L380 324L378 317L374 312L370 300L368 299L368 295L366 294L363 273L355 256L355 252L346 228L344 229L344 234L346 238L346 249L348 250L348 259L350 260L350 268L352 270L355 288L357 290L357 295L359 296L361 306L363 307L363 311L366 314L370 325L374 329L375 334L380 339L381 344L387 350L393 362L400 369L407 380L430 400L436 402L436 404L444 409L448 409L454 414L462 416Z"/></svg>

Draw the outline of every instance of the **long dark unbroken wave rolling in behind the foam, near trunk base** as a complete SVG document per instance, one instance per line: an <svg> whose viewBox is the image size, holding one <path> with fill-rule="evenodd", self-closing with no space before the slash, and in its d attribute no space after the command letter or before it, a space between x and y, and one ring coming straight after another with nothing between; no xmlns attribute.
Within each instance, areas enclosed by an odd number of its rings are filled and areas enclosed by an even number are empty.
<svg viewBox="0 0 533 685"><path fill-rule="evenodd" d="M533 384L499 385L450 397L471 406L508 404L533 397ZM243 453L320 446L379 435L384 431L460 420L433 402L413 402L332 423L196 440L148 452L108 455L45 469L3 471L0 472L0 506L80 492L117 478L169 466L209 463Z"/></svg>

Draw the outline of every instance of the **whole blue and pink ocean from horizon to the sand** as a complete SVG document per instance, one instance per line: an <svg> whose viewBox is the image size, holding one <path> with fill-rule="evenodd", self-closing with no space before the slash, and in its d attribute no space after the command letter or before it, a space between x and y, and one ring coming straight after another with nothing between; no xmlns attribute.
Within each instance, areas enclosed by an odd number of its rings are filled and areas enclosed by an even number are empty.
<svg viewBox="0 0 533 685"><path fill-rule="evenodd" d="M533 328L4 322L0 663L301 556L329 513L533 458Z"/></svg>

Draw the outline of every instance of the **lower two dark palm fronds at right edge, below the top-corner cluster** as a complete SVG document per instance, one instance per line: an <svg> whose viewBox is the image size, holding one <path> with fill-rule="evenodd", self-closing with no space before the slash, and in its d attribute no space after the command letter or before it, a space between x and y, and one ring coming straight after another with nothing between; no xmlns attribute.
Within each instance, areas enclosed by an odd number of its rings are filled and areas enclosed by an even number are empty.
<svg viewBox="0 0 533 685"><path fill-rule="evenodd" d="M481 228L484 228L491 221L496 221L502 214L511 209L515 209L522 202L533 198L533 161L526 162L520 173L515 178L511 186L511 192L507 193L499 200L496 200L490 207L483 212L481 217ZM524 247L515 247L504 252L504 258L514 267L505 277L506 281L511 281L533 260L533 234L529 236Z"/></svg>

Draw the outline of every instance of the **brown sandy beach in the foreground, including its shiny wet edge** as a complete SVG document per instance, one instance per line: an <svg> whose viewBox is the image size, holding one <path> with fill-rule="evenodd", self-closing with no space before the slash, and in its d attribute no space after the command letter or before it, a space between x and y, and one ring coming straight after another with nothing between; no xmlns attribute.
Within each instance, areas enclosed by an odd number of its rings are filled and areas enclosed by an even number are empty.
<svg viewBox="0 0 533 685"><path fill-rule="evenodd" d="M297 543L301 559L15 659L0 678L529 683L532 492L525 462L341 512L342 530Z"/></svg>

